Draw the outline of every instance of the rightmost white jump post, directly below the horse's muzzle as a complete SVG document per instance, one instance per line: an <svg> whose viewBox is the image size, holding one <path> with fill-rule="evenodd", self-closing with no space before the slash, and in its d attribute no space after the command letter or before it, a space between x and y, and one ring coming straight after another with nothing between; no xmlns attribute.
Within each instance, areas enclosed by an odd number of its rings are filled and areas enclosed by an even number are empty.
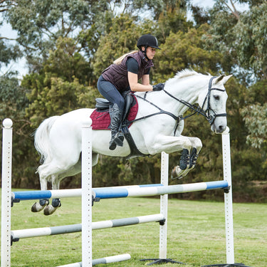
<svg viewBox="0 0 267 267"><path fill-rule="evenodd" d="M221 135L224 164L224 180L229 184L229 192L224 193L225 230L226 230L226 261L234 264L234 223L233 200L231 188L231 150L229 127Z"/></svg>

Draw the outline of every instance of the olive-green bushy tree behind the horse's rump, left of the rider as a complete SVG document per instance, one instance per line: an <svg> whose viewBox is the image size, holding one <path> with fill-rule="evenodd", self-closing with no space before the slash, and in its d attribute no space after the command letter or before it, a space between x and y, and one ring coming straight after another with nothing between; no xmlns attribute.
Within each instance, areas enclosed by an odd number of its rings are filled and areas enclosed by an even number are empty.
<svg viewBox="0 0 267 267"><path fill-rule="evenodd" d="M56 46L40 73L26 75L21 83L24 88L31 89L28 94L31 103L26 108L26 115L33 127L38 127L46 117L83 108L79 104L79 99L83 99L80 94L84 96L86 90L93 90L88 86L90 66L78 53L75 41L59 38ZM90 104L93 100L83 100L83 103Z"/></svg>

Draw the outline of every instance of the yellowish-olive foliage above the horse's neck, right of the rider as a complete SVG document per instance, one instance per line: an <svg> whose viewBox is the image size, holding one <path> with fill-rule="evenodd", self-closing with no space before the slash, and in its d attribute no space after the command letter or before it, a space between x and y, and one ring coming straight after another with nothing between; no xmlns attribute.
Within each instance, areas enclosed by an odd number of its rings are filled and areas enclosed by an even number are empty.
<svg viewBox="0 0 267 267"><path fill-rule="evenodd" d="M216 73L223 56L218 51L204 50L204 40L201 36L206 32L204 24L198 30L190 28L187 33L178 31L170 33L162 45L162 51L155 56L155 79L167 80L173 77L178 70L192 68L197 71L206 70ZM160 78L159 78L160 77Z"/></svg>

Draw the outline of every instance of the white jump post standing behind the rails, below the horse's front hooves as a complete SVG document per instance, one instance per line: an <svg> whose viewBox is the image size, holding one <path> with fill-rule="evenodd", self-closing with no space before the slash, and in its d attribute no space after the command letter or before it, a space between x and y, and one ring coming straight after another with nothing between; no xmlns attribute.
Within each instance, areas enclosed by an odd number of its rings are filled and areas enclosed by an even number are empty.
<svg viewBox="0 0 267 267"><path fill-rule="evenodd" d="M161 159L161 184L168 185L169 179L169 154L162 152ZM160 213L165 222L159 225L159 259L167 258L167 216L168 216L168 194L160 196Z"/></svg>

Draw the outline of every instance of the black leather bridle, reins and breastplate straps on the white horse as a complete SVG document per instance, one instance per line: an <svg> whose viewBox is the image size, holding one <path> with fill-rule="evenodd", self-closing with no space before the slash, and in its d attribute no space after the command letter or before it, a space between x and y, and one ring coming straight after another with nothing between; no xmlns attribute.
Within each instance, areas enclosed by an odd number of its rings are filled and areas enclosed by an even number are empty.
<svg viewBox="0 0 267 267"><path fill-rule="evenodd" d="M211 108L211 103L210 103L211 90L219 90L221 92L224 92L225 91L225 90L222 90L222 89L219 89L219 88L211 88L212 80L214 80L214 78L216 78L216 76L211 77L210 80L209 80L209 91L206 94L206 98L204 99L204 103L202 105L202 108L197 107L197 105L192 105L192 104L188 103L187 101L184 101L184 100L181 100L179 98L176 98L174 95L170 94L169 92L167 92L166 90L163 89L164 93L166 93L167 95L169 95L171 98L174 98L175 100L179 101L179 103L182 103L183 105L186 105L188 108L190 108L191 110L193 110L194 112L192 114L187 115L185 117L182 117L182 115L180 115L180 116L177 117L174 114L172 114L171 112L162 110L157 105L155 105L154 103L152 103L152 102L150 102L149 100L146 99L146 95L147 95L147 92L146 92L144 97L141 97L140 95L135 95L135 96L137 98L141 98L142 100L146 101L147 103L150 103L150 105L153 105L155 108L157 108L159 110L159 112L152 113L152 114L146 115L144 117L139 117L138 119L131 120L128 123L130 124L130 123L136 122L138 120L145 120L147 117L152 117L152 116L159 115L159 114L166 114L166 115L169 115L169 116L173 117L174 120L177 121L177 126L175 127L175 130L174 130L174 135L175 135L175 132L177 130L177 127L178 127L179 122L181 120L185 120L188 117L191 117L191 116L193 116L193 115L195 115L197 113L197 115L201 114L202 116L206 117L206 120L209 121L209 124L210 125L213 125L214 120L216 119L216 117L226 117L226 115L227 115L226 113L216 114L214 112L214 110L212 110L212 108ZM204 110L204 105L205 105L206 101L207 101L207 108L206 108L206 110ZM211 115L211 111L213 112L213 115Z"/></svg>

